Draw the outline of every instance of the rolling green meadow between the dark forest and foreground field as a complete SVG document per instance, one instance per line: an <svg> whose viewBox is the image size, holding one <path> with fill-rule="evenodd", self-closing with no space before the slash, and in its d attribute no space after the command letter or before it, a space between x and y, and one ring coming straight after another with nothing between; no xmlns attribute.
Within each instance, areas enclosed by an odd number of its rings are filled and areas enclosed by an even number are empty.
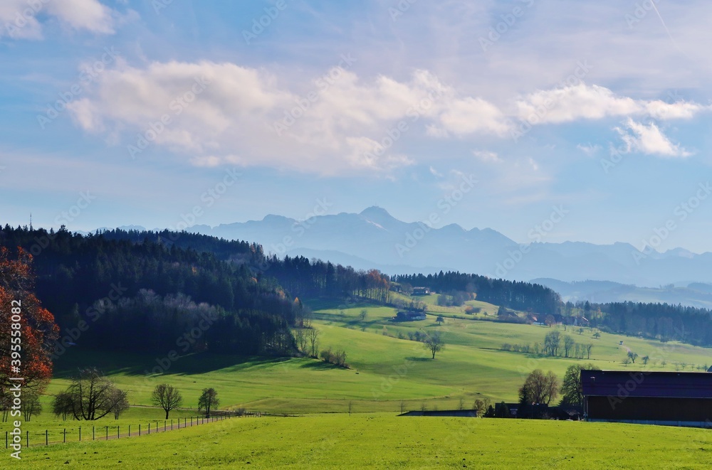
<svg viewBox="0 0 712 470"><path fill-rule="evenodd" d="M431 296L431 298L434 296ZM439 313L428 314L423 321L394 322L397 310L372 305L339 305L328 301L308 301L315 309L313 326L320 331L319 348L342 348L350 368L312 358L251 358L192 354L171 363L165 373L152 373L166 355L145 353L106 353L70 349L57 361L55 378L41 399L44 411L23 424L31 432L31 442L43 442L48 430L50 441L83 439L91 428L104 435L106 427L122 434L129 425L137 432L138 424L164 424L164 412L152 407L151 392L158 383L169 383L181 390L184 409L174 410L170 418L192 417L201 390L213 387L219 393L221 409L244 408L271 414L310 415L352 412L395 413L400 410L444 410L460 406L471 408L474 400L492 402L517 400L517 391L526 375L535 368L553 370L562 378L566 368L575 363L594 363L602 369L698 370L712 364L712 350L681 343L660 343L642 338L597 333L592 329L561 327L579 343L592 343L590 360L550 358L533 354L502 351L503 343L542 342L552 329L546 326L501 324L466 318L451 313L444 324L437 324ZM487 304L489 305L489 304ZM360 318L366 310L365 319ZM487 307L496 311L496 306ZM454 317L458 318L454 318ZM422 343L409 340L416 332L444 334L446 347L435 359ZM621 346L620 341L624 342ZM627 350L639 355L636 364L624 365ZM166 351L166 354L168 351ZM651 359L645 366L643 356ZM120 388L129 392L130 410L120 420L112 416L96 422L63 421L51 413L53 395L65 389L78 368L95 365ZM684 365L684 367L683 367ZM168 421L168 426L170 420ZM177 425L175 423L174 425ZM0 424L0 431L9 429Z"/></svg>

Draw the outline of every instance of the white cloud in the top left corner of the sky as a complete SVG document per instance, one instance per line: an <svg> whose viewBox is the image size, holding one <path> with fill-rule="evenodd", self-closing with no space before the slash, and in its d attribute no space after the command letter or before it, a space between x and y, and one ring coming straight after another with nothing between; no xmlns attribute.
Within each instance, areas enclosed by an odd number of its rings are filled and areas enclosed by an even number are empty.
<svg viewBox="0 0 712 470"><path fill-rule="evenodd" d="M119 15L98 0L3 0L0 2L0 36L41 39L37 17L48 15L75 31L112 34Z"/></svg>

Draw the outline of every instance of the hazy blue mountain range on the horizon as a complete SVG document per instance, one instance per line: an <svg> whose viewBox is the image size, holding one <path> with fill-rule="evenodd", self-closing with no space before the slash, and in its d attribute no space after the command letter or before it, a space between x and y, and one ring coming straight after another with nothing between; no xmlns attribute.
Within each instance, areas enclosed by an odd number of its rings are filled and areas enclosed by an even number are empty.
<svg viewBox="0 0 712 470"><path fill-rule="evenodd" d="M125 229L129 228L140 229L135 226ZM451 269L505 279L539 279L572 299L608 301L617 299L612 297L626 299L626 295L632 295L636 297L634 300L648 295L655 297L661 291L674 291L674 286L681 289L693 282L712 283L710 252L697 255L676 248L643 254L633 245L621 242L520 245L491 228L465 230L454 224L430 228L425 223L397 220L378 207L367 208L359 214L320 215L303 221L267 215L262 220L217 227L194 225L188 230L259 242L266 252L281 256L317 257L359 269L375 267L388 274ZM609 284L566 284L590 279ZM563 283L557 284L557 281ZM636 289L630 284L654 289ZM687 290L690 292L686 292L686 296L691 292L693 297L712 295L703 292L704 289ZM657 294L652 295L654 292ZM674 299L678 298L671 296L668 301L676 303Z"/></svg>

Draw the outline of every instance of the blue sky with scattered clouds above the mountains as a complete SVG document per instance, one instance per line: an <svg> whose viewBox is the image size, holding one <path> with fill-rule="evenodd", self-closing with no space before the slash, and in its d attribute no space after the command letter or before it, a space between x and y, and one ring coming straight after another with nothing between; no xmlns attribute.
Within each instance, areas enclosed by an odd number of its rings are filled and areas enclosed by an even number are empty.
<svg viewBox="0 0 712 470"><path fill-rule="evenodd" d="M342 3L2 2L1 222L556 207L543 241L712 251L712 4Z"/></svg>

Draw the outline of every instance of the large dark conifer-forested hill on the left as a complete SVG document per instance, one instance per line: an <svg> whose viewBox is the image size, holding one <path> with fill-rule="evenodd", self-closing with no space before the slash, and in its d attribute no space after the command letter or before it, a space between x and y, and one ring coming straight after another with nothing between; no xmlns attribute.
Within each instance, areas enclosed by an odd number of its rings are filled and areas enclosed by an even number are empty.
<svg viewBox="0 0 712 470"><path fill-rule="evenodd" d="M157 233L145 235L83 236L6 225L0 245L33 255L39 299L61 335L80 346L166 353L190 333L180 353L208 344L214 352L293 350L290 326L302 311L275 279L188 247L192 235L180 234L171 245ZM237 257L261 258L256 245L227 243L226 251Z"/></svg>

